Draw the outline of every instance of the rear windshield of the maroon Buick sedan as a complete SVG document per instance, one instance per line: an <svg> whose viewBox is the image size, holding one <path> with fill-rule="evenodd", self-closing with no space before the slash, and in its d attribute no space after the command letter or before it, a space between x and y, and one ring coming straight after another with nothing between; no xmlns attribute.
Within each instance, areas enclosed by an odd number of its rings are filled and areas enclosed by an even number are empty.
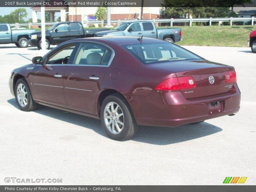
<svg viewBox="0 0 256 192"><path fill-rule="evenodd" d="M151 43L123 45L123 47L144 64L181 61L203 60L201 57L172 43Z"/></svg>

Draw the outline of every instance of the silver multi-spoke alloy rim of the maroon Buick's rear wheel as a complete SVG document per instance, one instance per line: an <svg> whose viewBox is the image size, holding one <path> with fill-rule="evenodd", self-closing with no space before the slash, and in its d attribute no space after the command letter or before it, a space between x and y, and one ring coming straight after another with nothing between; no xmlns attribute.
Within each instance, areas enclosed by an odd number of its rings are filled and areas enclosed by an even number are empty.
<svg viewBox="0 0 256 192"><path fill-rule="evenodd" d="M104 121L108 131L118 134L124 127L124 114L115 102L109 102L104 109Z"/></svg>

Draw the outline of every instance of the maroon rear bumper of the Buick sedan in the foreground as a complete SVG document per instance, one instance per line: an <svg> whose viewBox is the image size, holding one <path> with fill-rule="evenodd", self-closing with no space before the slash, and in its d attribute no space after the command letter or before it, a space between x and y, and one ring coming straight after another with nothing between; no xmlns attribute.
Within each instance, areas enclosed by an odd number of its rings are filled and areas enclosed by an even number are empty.
<svg viewBox="0 0 256 192"><path fill-rule="evenodd" d="M133 96L132 99L130 105L137 124L176 127L237 113L241 93L235 84L230 92L202 98L185 99L181 92L154 90L146 97ZM218 106L213 109L210 103L218 101L220 110Z"/></svg>

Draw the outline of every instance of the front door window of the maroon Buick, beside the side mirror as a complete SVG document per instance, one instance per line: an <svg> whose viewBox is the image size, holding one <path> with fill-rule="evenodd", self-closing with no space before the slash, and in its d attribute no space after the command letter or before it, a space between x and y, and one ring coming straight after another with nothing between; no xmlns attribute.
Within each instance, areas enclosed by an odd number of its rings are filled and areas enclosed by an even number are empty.
<svg viewBox="0 0 256 192"><path fill-rule="evenodd" d="M60 49L57 52L54 52L48 59L47 64L67 64L68 59L73 52L75 45L67 46L63 49Z"/></svg>

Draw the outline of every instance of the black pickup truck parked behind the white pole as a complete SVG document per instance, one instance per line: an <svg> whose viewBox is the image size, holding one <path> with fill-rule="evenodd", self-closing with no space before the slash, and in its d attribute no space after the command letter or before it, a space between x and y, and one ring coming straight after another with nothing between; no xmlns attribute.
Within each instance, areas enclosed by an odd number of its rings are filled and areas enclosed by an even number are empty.
<svg viewBox="0 0 256 192"><path fill-rule="evenodd" d="M109 29L99 28L99 29L84 29L81 22L60 22L56 23L48 30L45 31L46 38L46 49L50 48L50 45L57 45L62 42L85 38L85 37L93 37L96 32L106 31ZM29 37L29 43L31 46L37 46L38 49L42 49L41 47L41 31L31 33Z"/></svg>

